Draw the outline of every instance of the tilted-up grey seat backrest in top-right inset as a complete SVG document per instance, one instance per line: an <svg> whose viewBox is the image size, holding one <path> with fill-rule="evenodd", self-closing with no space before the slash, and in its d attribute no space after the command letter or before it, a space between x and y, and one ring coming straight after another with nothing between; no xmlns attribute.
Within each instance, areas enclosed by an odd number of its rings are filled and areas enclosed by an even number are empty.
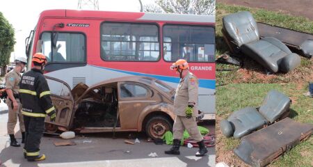
<svg viewBox="0 0 313 167"><path fill-rule="evenodd" d="M247 11L223 17L223 29L238 47L259 40L257 23L251 13Z"/></svg>

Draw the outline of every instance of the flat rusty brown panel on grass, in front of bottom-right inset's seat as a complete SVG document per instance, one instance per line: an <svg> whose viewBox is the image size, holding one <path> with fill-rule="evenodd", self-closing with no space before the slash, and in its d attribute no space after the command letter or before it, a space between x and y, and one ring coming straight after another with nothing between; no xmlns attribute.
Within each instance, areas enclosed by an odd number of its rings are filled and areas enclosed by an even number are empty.
<svg viewBox="0 0 313 167"><path fill-rule="evenodd" d="M241 138L234 154L250 166L266 166L300 141L309 138L313 125L284 118L264 129Z"/></svg>

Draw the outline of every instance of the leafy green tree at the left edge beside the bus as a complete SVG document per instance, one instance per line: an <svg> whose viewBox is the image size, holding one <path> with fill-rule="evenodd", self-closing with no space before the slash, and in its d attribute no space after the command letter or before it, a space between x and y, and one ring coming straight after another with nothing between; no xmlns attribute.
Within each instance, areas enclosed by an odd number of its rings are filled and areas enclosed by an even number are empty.
<svg viewBox="0 0 313 167"><path fill-rule="evenodd" d="M0 12L0 67L2 77L6 74L6 65L10 63L10 55L14 51L14 45L13 26Z"/></svg>

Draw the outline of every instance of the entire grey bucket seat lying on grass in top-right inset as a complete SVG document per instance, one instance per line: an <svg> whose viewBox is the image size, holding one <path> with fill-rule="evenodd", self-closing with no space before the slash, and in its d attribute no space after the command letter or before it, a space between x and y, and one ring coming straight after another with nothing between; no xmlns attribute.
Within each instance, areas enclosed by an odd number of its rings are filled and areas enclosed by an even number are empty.
<svg viewBox="0 0 313 167"><path fill-rule="evenodd" d="M222 32L232 52L242 52L271 72L289 72L300 66L300 56L280 40L260 39L257 23L247 11L223 17Z"/></svg>

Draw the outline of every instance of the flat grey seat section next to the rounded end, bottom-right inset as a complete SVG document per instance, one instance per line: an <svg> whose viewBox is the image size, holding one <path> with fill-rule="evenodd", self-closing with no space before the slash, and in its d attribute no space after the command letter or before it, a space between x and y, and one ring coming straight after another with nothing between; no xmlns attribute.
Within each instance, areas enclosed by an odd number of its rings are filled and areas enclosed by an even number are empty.
<svg viewBox="0 0 313 167"><path fill-rule="evenodd" d="M266 125L266 119L253 107L235 111L227 119L234 128L234 138L241 138Z"/></svg>

